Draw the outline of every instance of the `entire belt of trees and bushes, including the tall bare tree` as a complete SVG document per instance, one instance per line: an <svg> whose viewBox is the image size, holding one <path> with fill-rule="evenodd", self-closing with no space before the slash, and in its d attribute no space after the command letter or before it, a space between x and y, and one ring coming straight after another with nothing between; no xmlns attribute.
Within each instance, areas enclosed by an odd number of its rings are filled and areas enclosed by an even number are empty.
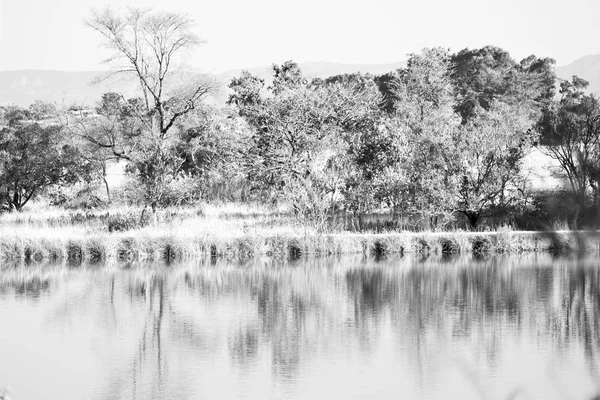
<svg viewBox="0 0 600 400"><path fill-rule="evenodd" d="M204 101L215 80L181 64L202 42L185 16L104 10L88 25L114 51L111 74L139 82L140 96L106 93L86 113L5 107L3 209L84 181L115 201L107 163L122 160L152 210L218 197L284 202L322 226L360 228L373 212L415 228L600 221L599 101L584 80L557 79L552 59L430 48L385 75L314 79L288 61L269 85L243 72L219 107ZM552 194L558 214L530 189L523 160L535 147L567 179Z"/></svg>

